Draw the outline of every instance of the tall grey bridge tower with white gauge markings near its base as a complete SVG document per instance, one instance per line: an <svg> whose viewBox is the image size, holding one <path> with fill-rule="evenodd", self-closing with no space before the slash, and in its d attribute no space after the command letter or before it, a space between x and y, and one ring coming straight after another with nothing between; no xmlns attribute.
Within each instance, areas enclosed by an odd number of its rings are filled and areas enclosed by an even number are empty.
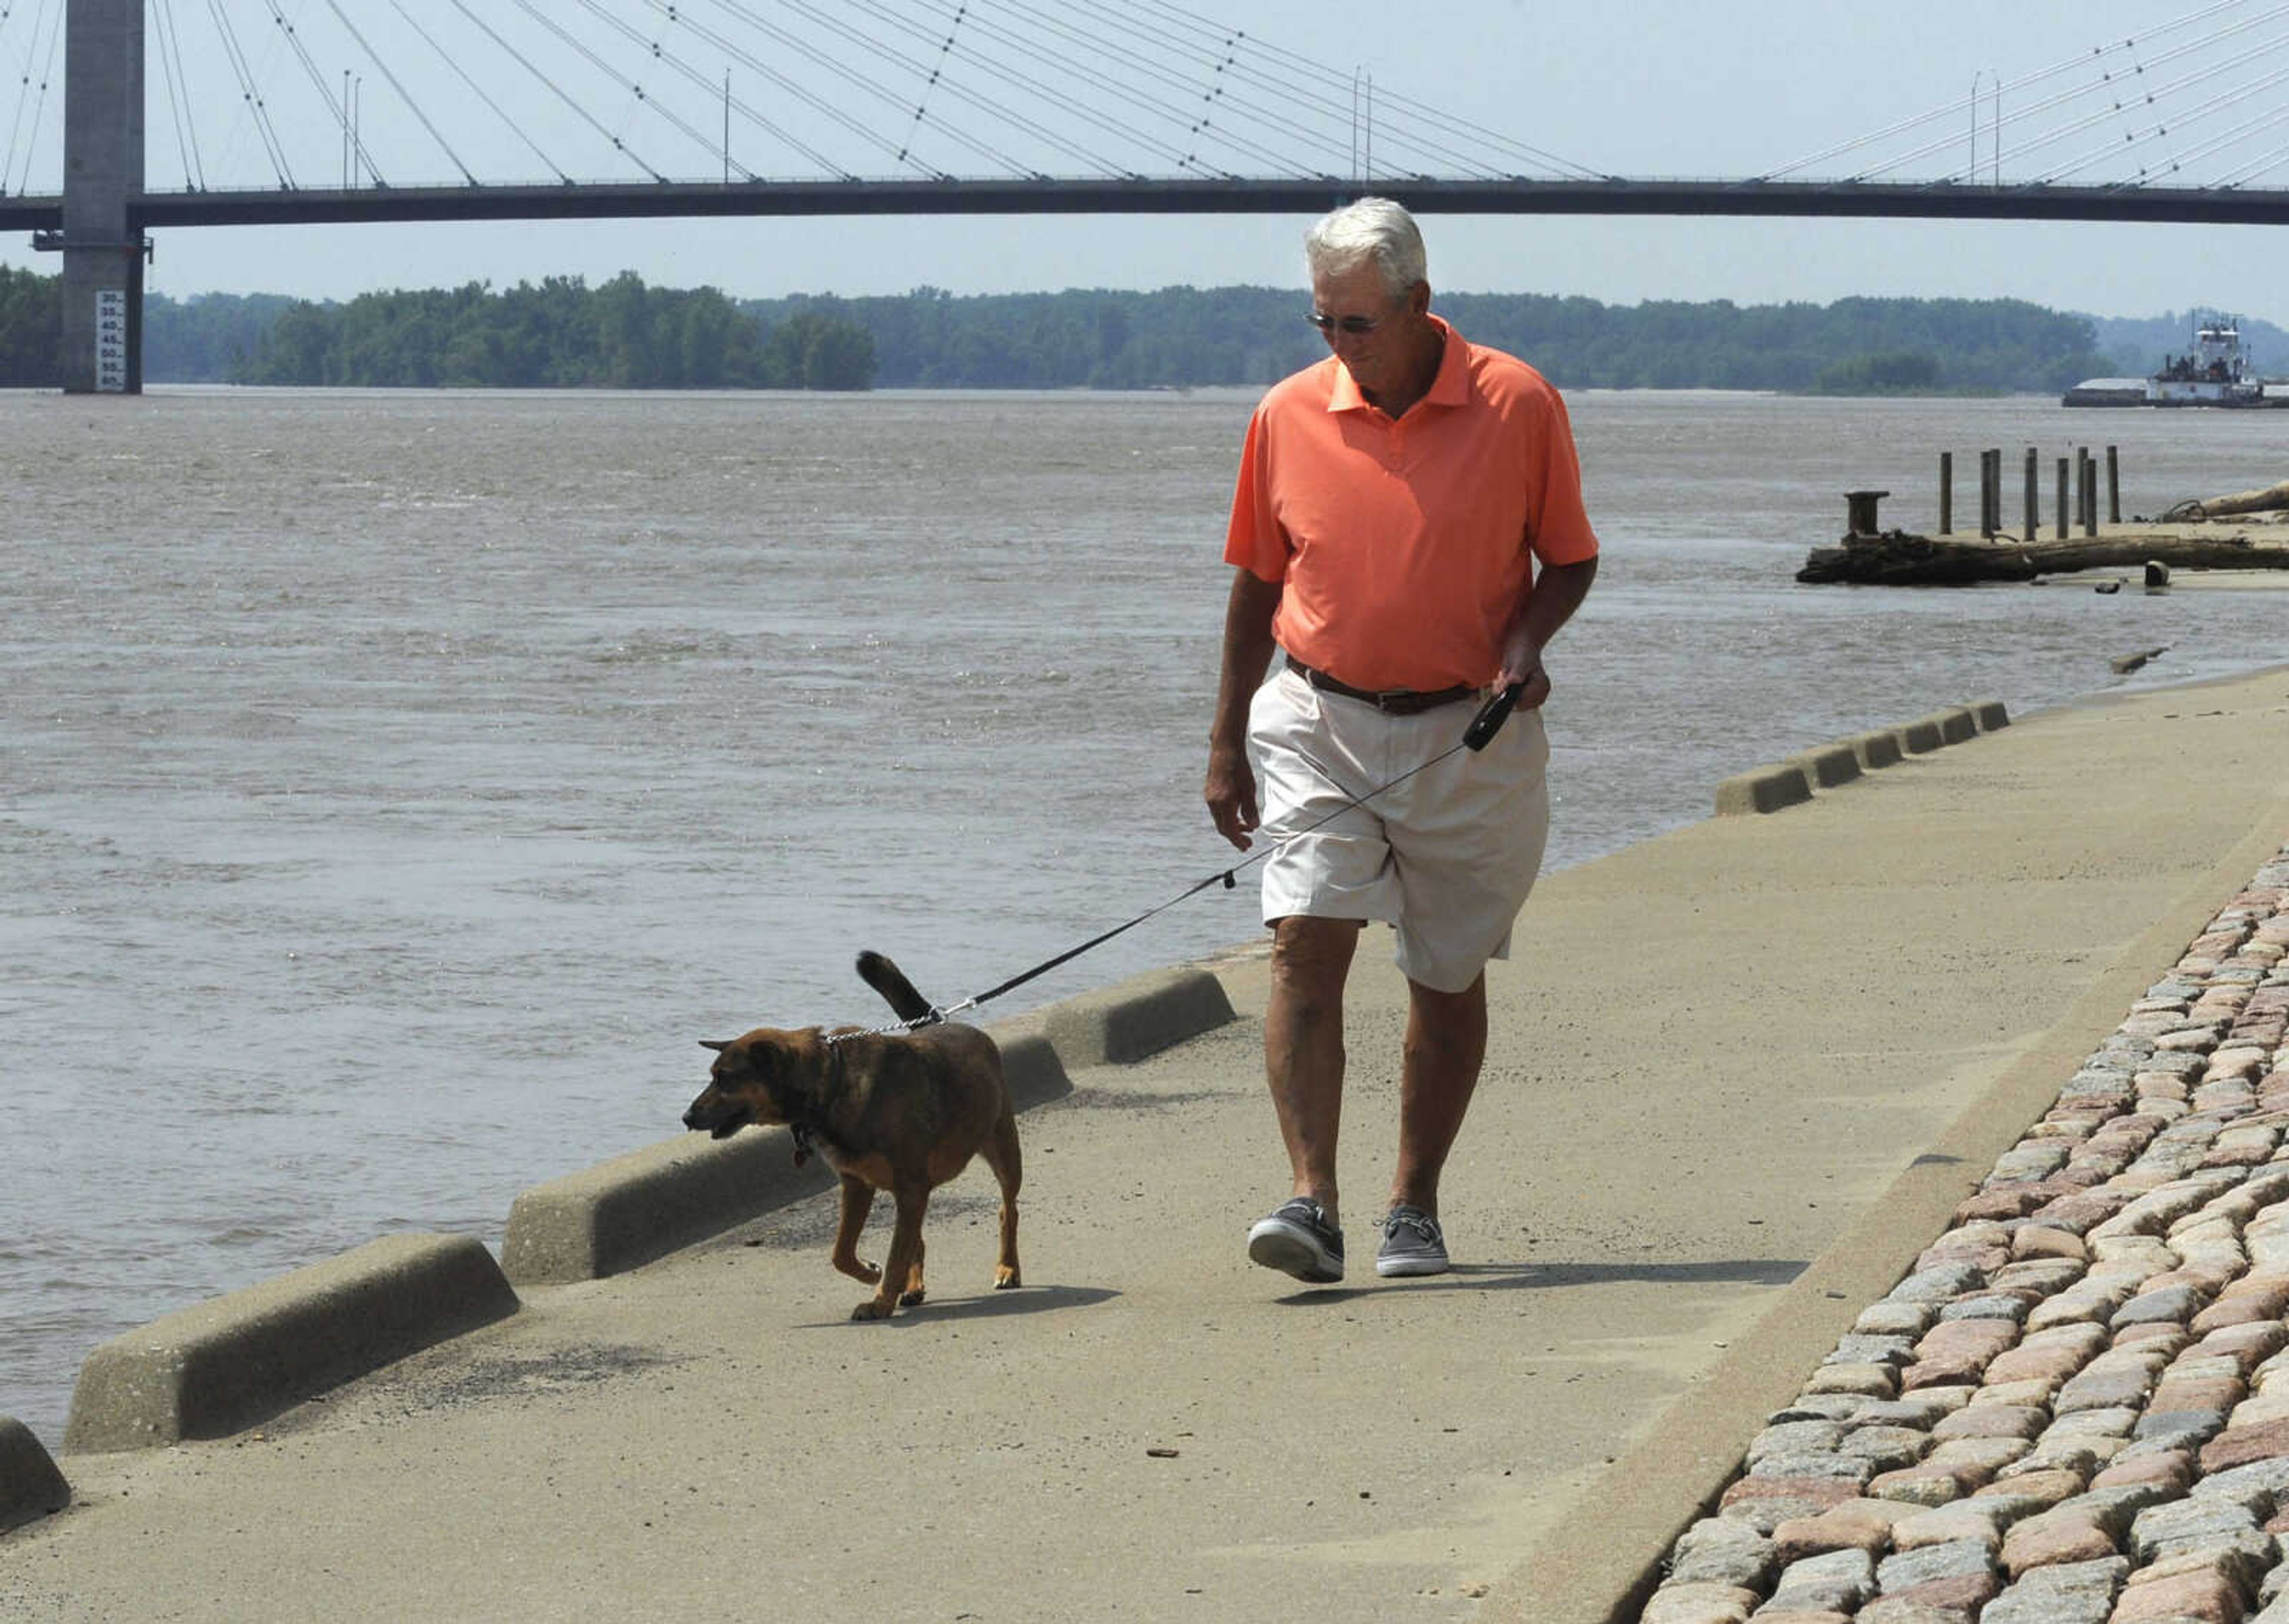
<svg viewBox="0 0 2289 1624"><path fill-rule="evenodd" d="M64 11L64 392L142 394L144 0Z"/></svg>

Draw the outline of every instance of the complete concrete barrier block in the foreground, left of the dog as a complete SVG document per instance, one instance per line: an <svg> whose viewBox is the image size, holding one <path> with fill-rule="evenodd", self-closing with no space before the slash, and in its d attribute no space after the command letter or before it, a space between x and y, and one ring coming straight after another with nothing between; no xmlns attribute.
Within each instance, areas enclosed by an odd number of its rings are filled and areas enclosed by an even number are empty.
<svg viewBox="0 0 2289 1624"><path fill-rule="evenodd" d="M64 1452L222 1438L513 1312L517 1294L483 1241L387 1235L96 1347Z"/></svg>

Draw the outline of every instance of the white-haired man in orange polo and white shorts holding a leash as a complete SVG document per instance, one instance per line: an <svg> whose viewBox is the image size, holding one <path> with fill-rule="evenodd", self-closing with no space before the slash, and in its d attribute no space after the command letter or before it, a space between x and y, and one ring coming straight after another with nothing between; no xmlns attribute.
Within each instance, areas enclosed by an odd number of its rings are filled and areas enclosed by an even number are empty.
<svg viewBox="0 0 2289 1624"><path fill-rule="evenodd" d="M1369 919L1396 928L1408 978L1376 1274L1449 1267L1437 1184L1486 1056L1486 962L1508 953L1550 827L1543 648L1589 593L1598 536L1563 401L1431 314L1405 208L1337 208L1305 257L1332 355L1248 424L1206 802L1241 850L1250 831L1282 841L1264 866L1264 1070L1293 1198L1250 1230L1248 1255L1330 1283L1344 1278L1344 980ZM1286 657L1266 683L1275 644ZM1353 804L1449 751L1474 703L1513 683L1518 710L1483 751Z"/></svg>

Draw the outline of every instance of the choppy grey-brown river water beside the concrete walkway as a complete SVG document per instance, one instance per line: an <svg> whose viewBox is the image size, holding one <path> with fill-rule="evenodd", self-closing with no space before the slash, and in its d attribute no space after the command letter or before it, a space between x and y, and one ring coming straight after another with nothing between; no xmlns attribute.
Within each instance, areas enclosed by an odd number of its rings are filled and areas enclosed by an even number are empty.
<svg viewBox="0 0 2289 1624"><path fill-rule="evenodd" d="M103 1338L375 1235L497 1246L678 1132L696 1038L879 1019L858 948L950 1001L1222 868L1250 403L0 394L0 1413L53 1448ZM2154 513L2289 474L2289 412L1573 410L1550 866L1941 703L2282 657L2275 593L1790 575L1845 488L1930 529L1943 449L2113 440ZM1206 891L987 1015L1257 932Z"/></svg>

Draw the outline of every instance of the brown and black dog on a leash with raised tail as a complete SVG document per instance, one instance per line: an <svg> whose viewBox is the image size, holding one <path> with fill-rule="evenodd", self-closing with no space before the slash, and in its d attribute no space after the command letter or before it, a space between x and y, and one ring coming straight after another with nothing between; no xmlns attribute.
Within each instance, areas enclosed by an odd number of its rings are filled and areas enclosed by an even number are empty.
<svg viewBox="0 0 2289 1624"><path fill-rule="evenodd" d="M881 953L861 953L858 976L900 1019L936 1015ZM984 1157L1003 1193L993 1287L1021 1285L1016 1109L1000 1049L982 1031L945 1022L909 1033L758 1026L730 1042L703 1038L700 1047L714 1049L716 1058L707 1088L684 1111L684 1127L730 1138L749 1122L785 1125L794 1132L797 1164L815 1145L840 1175L842 1221L833 1264L874 1287L852 1319L888 1319L897 1308L922 1301L929 1191L961 1173L971 1157ZM881 1267L858 1258L858 1230L874 1209L874 1191L890 1191L897 1203L890 1255Z"/></svg>

